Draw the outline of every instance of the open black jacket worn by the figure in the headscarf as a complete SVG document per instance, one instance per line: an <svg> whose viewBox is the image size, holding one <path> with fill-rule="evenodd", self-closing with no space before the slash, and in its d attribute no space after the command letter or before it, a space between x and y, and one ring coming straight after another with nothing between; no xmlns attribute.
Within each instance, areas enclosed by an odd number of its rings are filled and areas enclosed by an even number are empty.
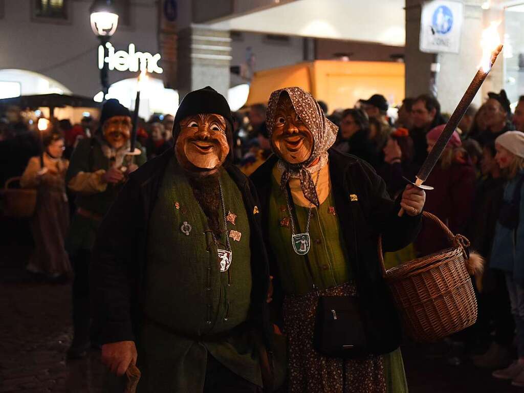
<svg viewBox="0 0 524 393"><path fill-rule="evenodd" d="M251 178L260 196L263 231L269 239L268 208L271 192L272 168L277 162L275 155L262 165ZM359 302L363 314L368 343L376 354L394 351L400 344L400 320L391 293L383 278L378 259L378 237L383 237L385 251L407 246L417 236L421 216L407 214L398 217L399 201L392 201L384 181L372 167L357 157L329 149L331 189L335 210L346 245L349 263L356 280ZM350 197L356 195L357 201ZM273 304L281 309L282 292L278 284L278 268L269 242L270 272L274 278ZM291 252L291 251L290 251Z"/></svg>

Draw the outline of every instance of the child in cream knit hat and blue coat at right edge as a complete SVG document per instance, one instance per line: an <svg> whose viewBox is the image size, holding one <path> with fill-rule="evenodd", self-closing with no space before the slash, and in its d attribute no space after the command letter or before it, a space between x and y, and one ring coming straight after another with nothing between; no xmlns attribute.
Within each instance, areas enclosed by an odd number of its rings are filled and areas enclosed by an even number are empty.
<svg viewBox="0 0 524 393"><path fill-rule="evenodd" d="M495 139L495 160L508 180L504 189L490 267L506 273L511 313L517 327L518 359L493 372L495 378L510 379L524 387L524 133L508 131Z"/></svg>

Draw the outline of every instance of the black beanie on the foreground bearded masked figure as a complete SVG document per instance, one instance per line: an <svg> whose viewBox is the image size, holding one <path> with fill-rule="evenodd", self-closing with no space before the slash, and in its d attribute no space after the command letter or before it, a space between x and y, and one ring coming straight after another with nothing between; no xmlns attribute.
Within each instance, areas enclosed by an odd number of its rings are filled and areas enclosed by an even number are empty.
<svg viewBox="0 0 524 393"><path fill-rule="evenodd" d="M199 113L222 115L230 123L231 129L233 129L233 115L227 100L210 86L185 95L178 107L177 114L174 116L174 129L180 129L177 125L185 117L198 115ZM175 135L176 137L177 135Z"/></svg>

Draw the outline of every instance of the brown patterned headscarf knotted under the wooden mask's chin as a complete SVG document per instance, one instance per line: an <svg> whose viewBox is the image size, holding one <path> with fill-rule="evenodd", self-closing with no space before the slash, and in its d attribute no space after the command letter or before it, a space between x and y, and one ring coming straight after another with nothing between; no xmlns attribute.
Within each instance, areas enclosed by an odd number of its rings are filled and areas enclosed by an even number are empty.
<svg viewBox="0 0 524 393"><path fill-rule="evenodd" d="M279 160L278 165L282 171L280 189L286 188L291 177L299 178L305 198L318 207L320 202L316 195L315 183L311 178L311 173L319 171L328 162L328 149L335 143L339 129L325 117L322 108L311 94L297 87L285 88L272 92L269 97L266 119L269 138L271 138L275 128L275 113L282 92L288 93L294 110L313 135L313 151L307 161L299 164L290 164L282 159ZM310 168L311 163L317 158L320 158L319 164Z"/></svg>

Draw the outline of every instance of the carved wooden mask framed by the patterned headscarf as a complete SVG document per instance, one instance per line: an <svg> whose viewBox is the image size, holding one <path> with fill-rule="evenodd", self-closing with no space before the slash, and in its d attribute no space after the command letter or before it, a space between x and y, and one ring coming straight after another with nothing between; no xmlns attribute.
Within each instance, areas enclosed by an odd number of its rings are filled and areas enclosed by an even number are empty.
<svg viewBox="0 0 524 393"><path fill-rule="evenodd" d="M313 134L302 122L288 94L281 94L274 117L271 145L275 154L290 164L305 162L313 152Z"/></svg>

